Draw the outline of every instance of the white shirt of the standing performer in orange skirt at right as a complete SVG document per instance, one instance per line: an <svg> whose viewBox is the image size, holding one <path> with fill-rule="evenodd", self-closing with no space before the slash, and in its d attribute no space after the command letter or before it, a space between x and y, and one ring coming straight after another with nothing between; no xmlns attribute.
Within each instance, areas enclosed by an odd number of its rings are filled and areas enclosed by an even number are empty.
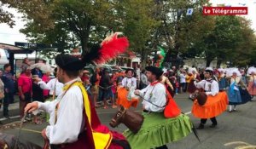
<svg viewBox="0 0 256 149"><path fill-rule="evenodd" d="M207 81L207 80L201 80L201 82L196 83L194 82L195 87L198 89L204 89L206 91L207 95L217 95L218 94L218 82L215 80Z"/></svg>

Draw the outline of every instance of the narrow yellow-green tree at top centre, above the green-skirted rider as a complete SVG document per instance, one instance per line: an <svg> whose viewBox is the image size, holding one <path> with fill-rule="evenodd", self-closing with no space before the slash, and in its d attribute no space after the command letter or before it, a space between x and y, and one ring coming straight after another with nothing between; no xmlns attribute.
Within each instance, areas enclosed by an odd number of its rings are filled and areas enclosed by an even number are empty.
<svg viewBox="0 0 256 149"><path fill-rule="evenodd" d="M122 3L124 33L129 38L132 51L141 55L143 66L146 65L152 47L152 35L159 25L154 20L154 2L152 0L126 0Z"/></svg>

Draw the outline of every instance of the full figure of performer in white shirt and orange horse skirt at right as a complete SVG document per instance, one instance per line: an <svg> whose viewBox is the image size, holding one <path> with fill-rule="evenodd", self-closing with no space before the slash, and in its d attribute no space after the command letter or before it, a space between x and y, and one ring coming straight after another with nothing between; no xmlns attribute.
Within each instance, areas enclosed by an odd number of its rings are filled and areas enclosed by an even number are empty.
<svg viewBox="0 0 256 149"><path fill-rule="evenodd" d="M228 103L228 98L225 92L218 92L218 83L213 80L213 70L208 67L205 72L205 79L201 82L195 81L195 87L197 89L204 89L205 94L207 95L206 103L201 106L198 100L194 100L192 107L192 114L195 117L201 118L201 123L197 129L204 129L205 124L207 123L207 118L210 118L212 121L211 128L217 126L216 117L226 110Z"/></svg>

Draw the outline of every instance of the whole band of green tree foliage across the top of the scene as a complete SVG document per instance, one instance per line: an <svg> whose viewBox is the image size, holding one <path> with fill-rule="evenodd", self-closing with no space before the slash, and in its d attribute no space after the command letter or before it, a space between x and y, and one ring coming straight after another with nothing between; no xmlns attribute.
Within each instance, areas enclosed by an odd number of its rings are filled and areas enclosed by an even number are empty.
<svg viewBox="0 0 256 149"><path fill-rule="evenodd" d="M144 64L157 46L166 49L166 60L204 57L207 65L230 61L253 64L256 39L250 22L239 16L206 16L207 0L1 0L1 6L18 9L26 26L21 30L32 43L57 47L58 52L100 42L108 32L124 32L130 50L141 54ZM193 8L192 15L186 15ZM0 9L0 23L14 25L12 15ZM52 55L52 49L44 54ZM144 65L143 65L144 66Z"/></svg>

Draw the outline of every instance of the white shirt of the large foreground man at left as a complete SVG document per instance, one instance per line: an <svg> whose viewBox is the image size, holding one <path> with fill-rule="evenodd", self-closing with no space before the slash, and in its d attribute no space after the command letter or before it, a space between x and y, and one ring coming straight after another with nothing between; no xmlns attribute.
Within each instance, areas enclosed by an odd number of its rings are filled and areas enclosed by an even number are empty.
<svg viewBox="0 0 256 149"><path fill-rule="evenodd" d="M68 83L79 80L76 78ZM49 126L46 135L50 144L72 143L78 140L79 133L84 129L84 100L78 86L62 92L56 100L38 102L38 110L49 112ZM63 96L63 97L62 97ZM59 103L57 122L55 123L55 106Z"/></svg>

